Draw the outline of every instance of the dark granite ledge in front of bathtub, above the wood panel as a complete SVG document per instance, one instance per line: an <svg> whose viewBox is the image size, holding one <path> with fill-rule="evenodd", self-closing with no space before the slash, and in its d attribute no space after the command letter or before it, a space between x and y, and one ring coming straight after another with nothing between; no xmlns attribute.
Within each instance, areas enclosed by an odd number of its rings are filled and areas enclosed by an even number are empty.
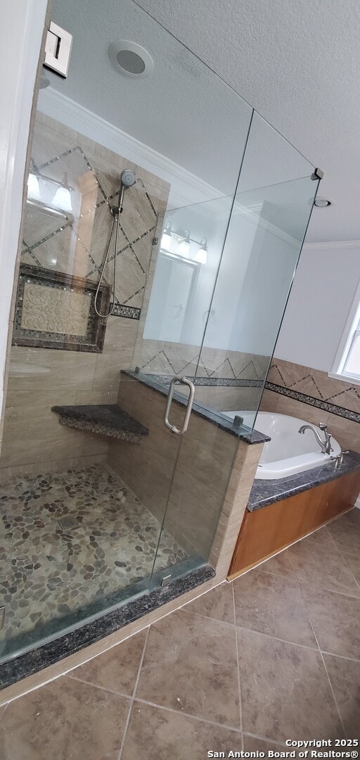
<svg viewBox="0 0 360 760"><path fill-rule="evenodd" d="M336 480L357 470L360 471L360 454L357 451L349 451L339 467L330 462L321 467L314 467L313 470L305 470L277 480L255 479L248 499L248 511L254 512L282 499L289 499L297 493L321 486L322 483L329 483L330 480Z"/></svg>

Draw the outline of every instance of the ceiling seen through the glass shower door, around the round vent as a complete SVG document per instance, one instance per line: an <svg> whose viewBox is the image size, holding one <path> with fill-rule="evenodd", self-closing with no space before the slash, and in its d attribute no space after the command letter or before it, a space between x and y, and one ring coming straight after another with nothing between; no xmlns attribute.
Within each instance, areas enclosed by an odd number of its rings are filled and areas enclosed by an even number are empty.
<svg viewBox="0 0 360 760"><path fill-rule="evenodd" d="M233 194L252 113L248 103L132 0L116 8L111 0L82 0L81 8L54 0L52 15L76 34L68 78L49 71L52 86L122 130L125 155L138 148L137 163L150 171L155 165L154 173L170 183L168 207ZM110 46L114 53L126 49L126 40L153 60L144 77L124 74L116 64ZM99 55L89 55L95 45ZM47 101L45 91L49 109Z"/></svg>

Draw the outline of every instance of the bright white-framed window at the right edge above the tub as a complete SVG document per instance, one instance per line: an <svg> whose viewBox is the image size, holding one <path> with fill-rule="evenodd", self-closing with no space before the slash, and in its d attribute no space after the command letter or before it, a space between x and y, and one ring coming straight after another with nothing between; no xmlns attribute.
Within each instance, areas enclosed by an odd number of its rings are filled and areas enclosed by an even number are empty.
<svg viewBox="0 0 360 760"><path fill-rule="evenodd" d="M360 284L329 375L360 385Z"/></svg>

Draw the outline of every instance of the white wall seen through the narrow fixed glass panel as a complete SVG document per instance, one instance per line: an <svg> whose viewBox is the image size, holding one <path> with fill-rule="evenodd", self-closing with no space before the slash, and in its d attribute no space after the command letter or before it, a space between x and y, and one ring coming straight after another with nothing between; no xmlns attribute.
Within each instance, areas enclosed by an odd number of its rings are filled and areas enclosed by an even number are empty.
<svg viewBox="0 0 360 760"><path fill-rule="evenodd" d="M235 209L204 345L271 356L300 243L257 214Z"/></svg>

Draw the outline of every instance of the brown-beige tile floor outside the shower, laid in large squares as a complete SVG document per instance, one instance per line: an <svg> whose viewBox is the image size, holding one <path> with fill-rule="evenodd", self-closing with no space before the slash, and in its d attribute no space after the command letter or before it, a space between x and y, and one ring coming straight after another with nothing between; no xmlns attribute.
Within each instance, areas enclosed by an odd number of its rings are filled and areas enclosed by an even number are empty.
<svg viewBox="0 0 360 760"><path fill-rule="evenodd" d="M360 739L360 510L0 708L3 760Z"/></svg>

